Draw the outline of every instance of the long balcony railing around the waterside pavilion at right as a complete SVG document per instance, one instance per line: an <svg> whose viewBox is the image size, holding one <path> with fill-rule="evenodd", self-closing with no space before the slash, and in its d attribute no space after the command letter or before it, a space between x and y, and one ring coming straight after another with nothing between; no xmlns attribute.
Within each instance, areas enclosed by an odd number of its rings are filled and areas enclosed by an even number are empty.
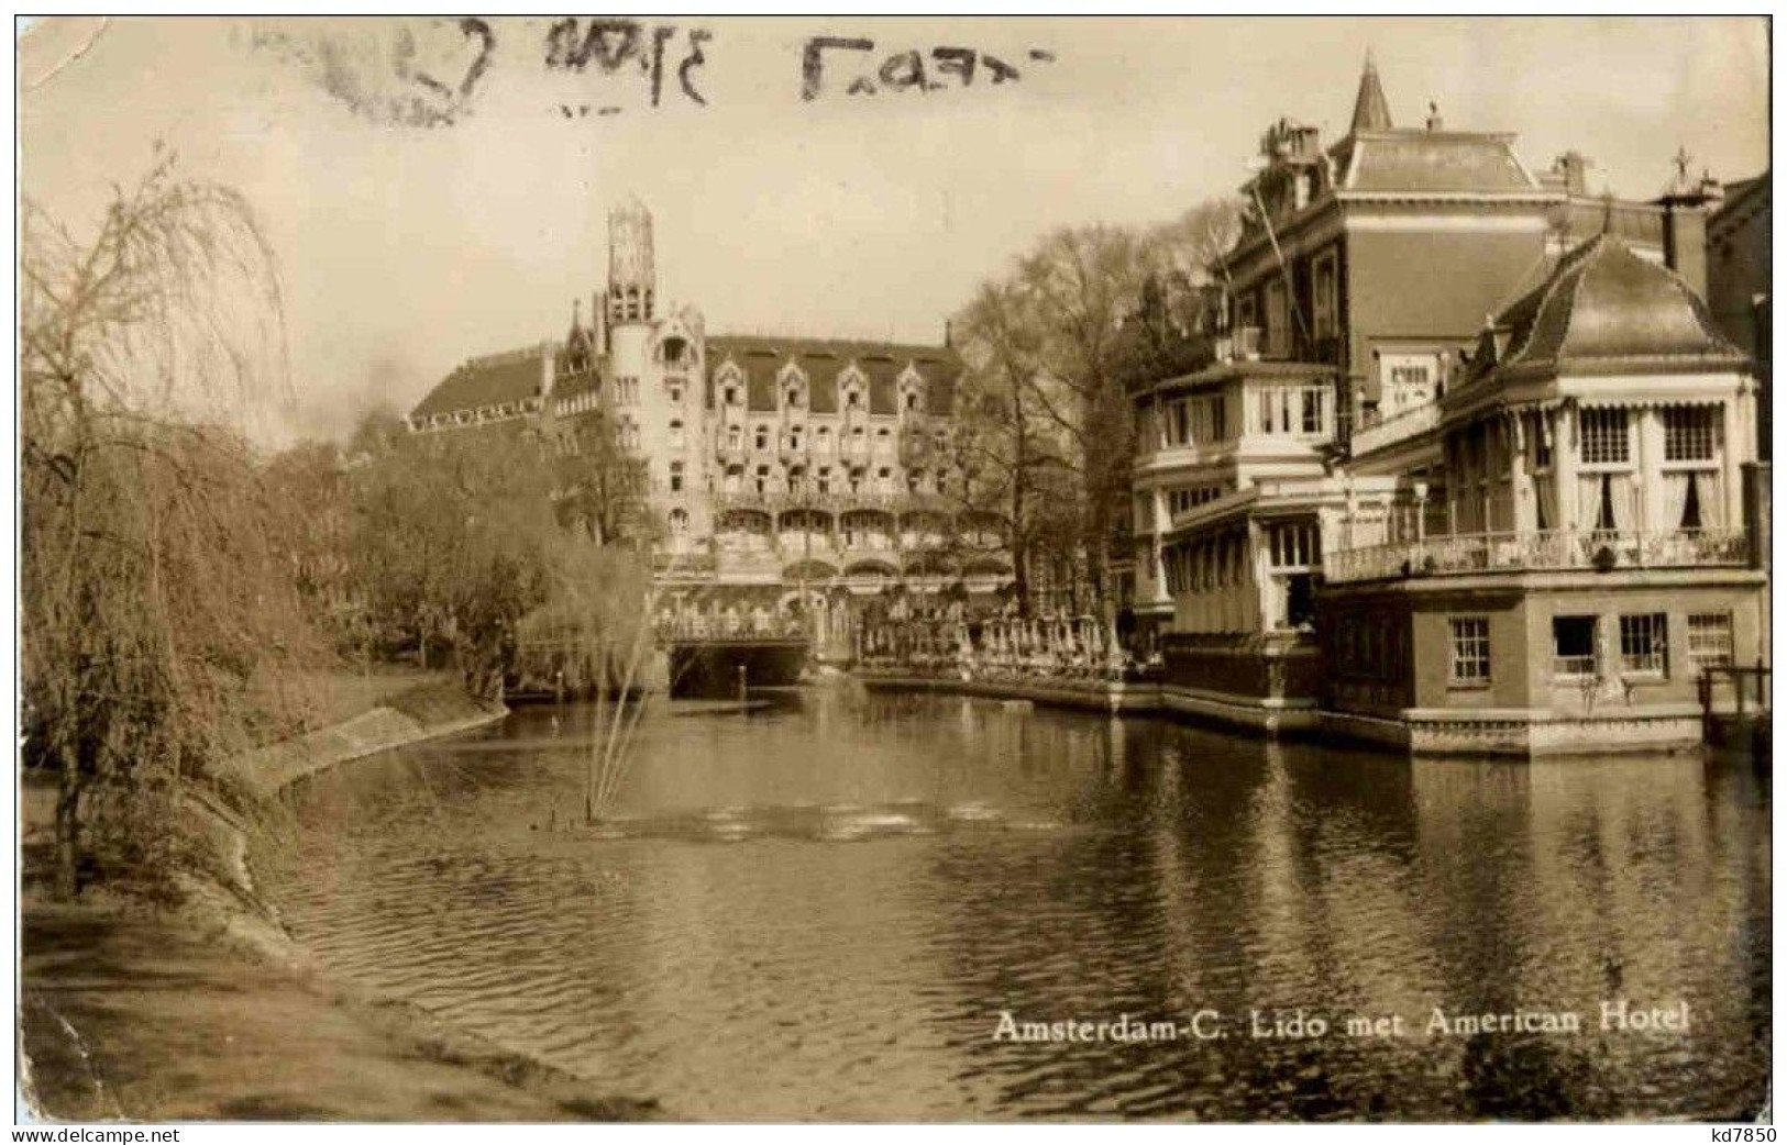
<svg viewBox="0 0 1787 1145"><path fill-rule="evenodd" d="M1742 529L1476 532L1342 548L1322 559L1328 581L1456 577L1490 572L1733 568L1749 563Z"/></svg>

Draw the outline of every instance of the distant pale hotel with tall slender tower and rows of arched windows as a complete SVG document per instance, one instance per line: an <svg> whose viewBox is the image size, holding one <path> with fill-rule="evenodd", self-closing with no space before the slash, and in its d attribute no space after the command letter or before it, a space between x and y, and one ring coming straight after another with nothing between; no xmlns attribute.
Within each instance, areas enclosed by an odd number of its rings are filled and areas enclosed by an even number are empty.
<svg viewBox="0 0 1787 1145"><path fill-rule="evenodd" d="M667 607L734 614L802 600L847 648L852 600L1010 584L999 522L961 509L949 347L709 336L663 305L652 218L609 213L608 284L561 341L477 357L409 414L416 434L527 423L575 448L611 420L647 472Z"/></svg>

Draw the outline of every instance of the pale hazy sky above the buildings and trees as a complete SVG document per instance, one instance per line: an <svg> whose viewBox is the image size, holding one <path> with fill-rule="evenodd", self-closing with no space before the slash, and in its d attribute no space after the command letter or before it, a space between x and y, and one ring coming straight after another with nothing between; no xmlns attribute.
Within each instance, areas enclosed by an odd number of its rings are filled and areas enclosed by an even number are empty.
<svg viewBox="0 0 1787 1145"><path fill-rule="evenodd" d="M1769 163L1762 18L643 16L636 50L552 25L50 21L20 46L21 191L91 232L157 139L243 191L284 282L281 432L340 436L466 357L563 336L627 195L654 214L659 297L709 332L936 343L1045 232L1231 195L1279 116L1338 139L1367 50L1399 127L1437 104L1515 132L1531 170L1576 148L1592 191L1657 195L1678 148L1726 180ZM802 98L818 36L874 46L822 52Z"/></svg>

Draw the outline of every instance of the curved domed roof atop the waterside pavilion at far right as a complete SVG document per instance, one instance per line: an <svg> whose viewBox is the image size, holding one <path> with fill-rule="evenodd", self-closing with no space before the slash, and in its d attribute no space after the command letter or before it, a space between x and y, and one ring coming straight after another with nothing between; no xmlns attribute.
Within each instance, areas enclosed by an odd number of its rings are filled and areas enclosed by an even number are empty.
<svg viewBox="0 0 1787 1145"><path fill-rule="evenodd" d="M1467 380L1741 370L1748 361L1680 275L1632 254L1619 236L1601 234L1565 254L1544 284L1494 320Z"/></svg>

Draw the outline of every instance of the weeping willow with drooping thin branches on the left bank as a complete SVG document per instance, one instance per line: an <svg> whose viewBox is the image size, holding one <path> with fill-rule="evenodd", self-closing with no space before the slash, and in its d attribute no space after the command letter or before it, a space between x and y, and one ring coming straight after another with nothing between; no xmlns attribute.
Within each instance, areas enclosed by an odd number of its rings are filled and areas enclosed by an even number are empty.
<svg viewBox="0 0 1787 1145"><path fill-rule="evenodd" d="M54 772L54 888L157 877L177 800L282 734L323 659L241 425L281 397L272 250L161 152L91 238L25 198L20 250L23 765Z"/></svg>

